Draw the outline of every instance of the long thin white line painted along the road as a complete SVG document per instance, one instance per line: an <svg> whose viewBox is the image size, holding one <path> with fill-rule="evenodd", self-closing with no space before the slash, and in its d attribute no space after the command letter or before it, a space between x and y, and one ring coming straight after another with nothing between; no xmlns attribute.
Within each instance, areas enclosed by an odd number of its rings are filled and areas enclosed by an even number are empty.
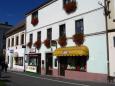
<svg viewBox="0 0 115 86"><path fill-rule="evenodd" d="M54 81L54 82L60 82L60 83L65 83L65 84L77 85L77 86L78 86L78 85L79 85L79 86L90 86L90 85L86 85L86 84L65 82L65 81L48 79L48 78L43 78L43 77L36 77L36 76L31 76L31 75L21 74L21 73L16 73L16 72L11 72L11 73L15 73L15 74L18 74L18 75L24 75L24 76L28 76L28 77L32 77L32 78L37 78L37 79L44 79L44 80L49 80L49 81Z"/></svg>

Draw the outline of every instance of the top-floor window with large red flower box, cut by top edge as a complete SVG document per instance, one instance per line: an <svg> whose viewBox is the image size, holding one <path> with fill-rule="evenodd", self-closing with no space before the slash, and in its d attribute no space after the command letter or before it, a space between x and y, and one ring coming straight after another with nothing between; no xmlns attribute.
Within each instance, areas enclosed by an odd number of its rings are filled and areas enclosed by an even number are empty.
<svg viewBox="0 0 115 86"><path fill-rule="evenodd" d="M67 13L72 13L77 8L76 0L63 0L63 8Z"/></svg>

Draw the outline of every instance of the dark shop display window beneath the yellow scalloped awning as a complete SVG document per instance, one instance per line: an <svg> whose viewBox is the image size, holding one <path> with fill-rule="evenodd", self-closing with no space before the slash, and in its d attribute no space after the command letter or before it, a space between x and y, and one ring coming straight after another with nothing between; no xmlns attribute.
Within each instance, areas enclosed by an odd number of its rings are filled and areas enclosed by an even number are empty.
<svg viewBox="0 0 115 86"><path fill-rule="evenodd" d="M60 57L60 66L65 66L66 70L86 71L87 57L85 56L65 56Z"/></svg>

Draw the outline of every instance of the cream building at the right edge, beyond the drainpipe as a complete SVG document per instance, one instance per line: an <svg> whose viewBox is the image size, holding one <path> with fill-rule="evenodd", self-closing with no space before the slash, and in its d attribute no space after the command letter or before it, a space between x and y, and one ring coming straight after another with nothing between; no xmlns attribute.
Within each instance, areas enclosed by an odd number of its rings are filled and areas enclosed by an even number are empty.
<svg viewBox="0 0 115 86"><path fill-rule="evenodd" d="M115 77L115 0L108 0L110 14L107 16L109 44L109 73Z"/></svg>

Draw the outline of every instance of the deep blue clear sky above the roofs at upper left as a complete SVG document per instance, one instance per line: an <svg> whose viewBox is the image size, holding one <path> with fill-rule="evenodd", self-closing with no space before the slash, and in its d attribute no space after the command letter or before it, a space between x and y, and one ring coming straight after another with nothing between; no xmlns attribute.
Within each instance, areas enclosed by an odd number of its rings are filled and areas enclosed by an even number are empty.
<svg viewBox="0 0 115 86"><path fill-rule="evenodd" d="M0 0L0 22L16 25L24 20L25 14L47 0Z"/></svg>

